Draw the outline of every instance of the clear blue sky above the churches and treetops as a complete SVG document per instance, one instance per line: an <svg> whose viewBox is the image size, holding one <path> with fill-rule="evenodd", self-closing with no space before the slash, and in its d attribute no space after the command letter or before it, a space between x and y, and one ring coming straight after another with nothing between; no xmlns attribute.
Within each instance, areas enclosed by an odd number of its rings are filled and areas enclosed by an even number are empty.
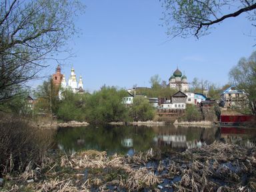
<svg viewBox="0 0 256 192"><path fill-rule="evenodd" d="M163 8L159 0L82 2L85 13L75 21L79 37L68 43L75 57L61 67L68 79L73 66L88 92L104 84L149 87L155 74L168 82L177 66L188 82L197 77L223 86L229 82L229 70L255 50L255 38L249 36L254 29L245 14L215 25L210 35L200 39L171 39L166 27L161 26ZM51 64L42 75L53 74L56 66Z"/></svg>

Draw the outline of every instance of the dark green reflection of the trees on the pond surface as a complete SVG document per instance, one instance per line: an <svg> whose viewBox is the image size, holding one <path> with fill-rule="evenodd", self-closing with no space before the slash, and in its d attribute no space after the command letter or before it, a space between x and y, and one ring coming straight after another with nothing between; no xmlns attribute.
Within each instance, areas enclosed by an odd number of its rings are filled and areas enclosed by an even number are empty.
<svg viewBox="0 0 256 192"><path fill-rule="evenodd" d="M133 148L144 151L151 147L154 132L151 128L133 126L87 126L62 128L57 134L57 142L64 151L97 149L110 153L127 153L123 140L133 140ZM129 147L129 146L128 146Z"/></svg>

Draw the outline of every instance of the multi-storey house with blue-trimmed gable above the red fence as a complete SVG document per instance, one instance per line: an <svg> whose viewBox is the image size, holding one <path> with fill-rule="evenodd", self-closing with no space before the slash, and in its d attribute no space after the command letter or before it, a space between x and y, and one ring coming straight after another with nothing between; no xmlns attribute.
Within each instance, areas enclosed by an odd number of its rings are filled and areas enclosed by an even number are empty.
<svg viewBox="0 0 256 192"><path fill-rule="evenodd" d="M225 108L245 108L248 104L247 94L236 86L230 86L222 92L221 102Z"/></svg>

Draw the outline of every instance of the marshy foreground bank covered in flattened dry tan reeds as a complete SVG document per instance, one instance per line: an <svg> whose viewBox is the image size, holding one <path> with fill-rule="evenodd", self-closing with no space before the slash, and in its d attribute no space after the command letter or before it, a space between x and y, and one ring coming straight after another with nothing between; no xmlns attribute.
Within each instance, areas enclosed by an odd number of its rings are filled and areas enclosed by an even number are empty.
<svg viewBox="0 0 256 192"><path fill-rule="evenodd" d="M57 153L41 166L4 175L0 191L255 191L256 148L213 143L183 153L159 150L107 156Z"/></svg>

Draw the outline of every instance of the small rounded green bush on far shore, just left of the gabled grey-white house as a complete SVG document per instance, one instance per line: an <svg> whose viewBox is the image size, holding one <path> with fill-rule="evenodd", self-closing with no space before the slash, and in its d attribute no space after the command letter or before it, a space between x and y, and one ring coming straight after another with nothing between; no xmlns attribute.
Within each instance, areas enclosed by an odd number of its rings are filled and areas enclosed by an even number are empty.
<svg viewBox="0 0 256 192"><path fill-rule="evenodd" d="M153 106L151 106L151 104L149 104L149 100L138 96L133 98L133 105L130 109L130 116L135 121L153 120L155 116L155 109Z"/></svg>

